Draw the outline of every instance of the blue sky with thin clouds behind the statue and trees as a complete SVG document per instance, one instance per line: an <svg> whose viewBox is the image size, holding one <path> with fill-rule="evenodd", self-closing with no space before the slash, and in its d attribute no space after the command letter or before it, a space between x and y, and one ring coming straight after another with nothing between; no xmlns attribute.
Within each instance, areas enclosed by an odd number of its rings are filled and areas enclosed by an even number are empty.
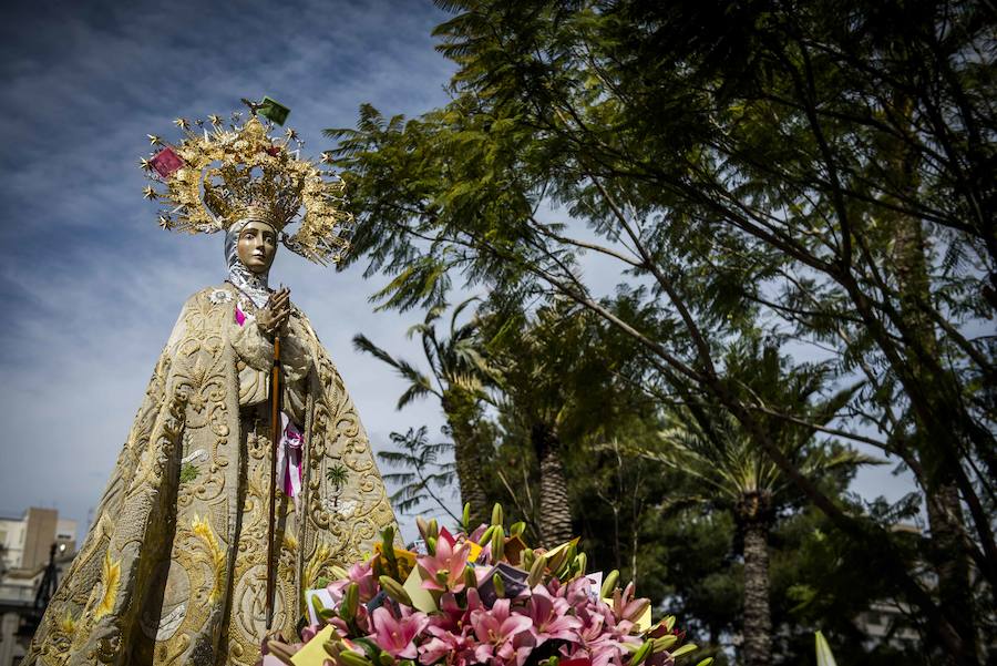
<svg viewBox="0 0 997 666"><path fill-rule="evenodd" d="M353 126L363 102L413 115L446 100L453 65L430 37L445 14L423 0L4 9L0 513L54 506L85 529L181 305L225 277L220 236L156 226L137 168L146 134L176 136L177 116L224 115L241 96L269 94L317 155L331 145L321 130ZM618 270L583 267L597 293L611 293ZM397 412L402 381L350 345L362 331L420 358L404 330L421 315L372 312L367 298L383 279L361 270L285 252L271 281L308 312L376 447L410 426L438 432L438 406ZM856 486L894 498L909 488L888 468Z"/></svg>

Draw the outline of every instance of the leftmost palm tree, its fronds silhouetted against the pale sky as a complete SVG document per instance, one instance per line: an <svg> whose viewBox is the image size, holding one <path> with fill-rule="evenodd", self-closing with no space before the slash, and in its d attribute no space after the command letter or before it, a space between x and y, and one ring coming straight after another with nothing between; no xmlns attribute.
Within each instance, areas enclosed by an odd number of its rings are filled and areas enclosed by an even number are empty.
<svg viewBox="0 0 997 666"><path fill-rule="evenodd" d="M422 341L429 373L403 359L395 359L362 334L353 337L353 346L384 361L409 381L409 387L398 399L398 409L426 396L435 396L440 400L453 438L461 502L471 504L472 518L483 520L489 502L480 472L485 459L483 449L486 438L479 424L490 370L479 352L476 315L465 324L458 324L464 309L475 300L469 298L454 308L446 338L441 339L436 334L436 324L446 311L445 304L431 308L421 324L409 328L409 338L418 335Z"/></svg>

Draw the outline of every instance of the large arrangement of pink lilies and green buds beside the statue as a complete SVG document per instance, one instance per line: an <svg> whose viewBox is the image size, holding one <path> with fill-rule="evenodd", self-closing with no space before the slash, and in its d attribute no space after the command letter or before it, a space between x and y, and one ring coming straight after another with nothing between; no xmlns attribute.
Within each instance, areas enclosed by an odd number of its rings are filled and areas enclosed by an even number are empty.
<svg viewBox="0 0 997 666"><path fill-rule="evenodd" d="M498 504L470 532L467 506L458 534L417 522L412 550L389 529L369 559L310 595L304 645L270 641L264 664L672 666L697 649L674 616L652 625L650 601L620 588L618 572L586 574L577 539L531 549L524 523L506 532Z"/></svg>

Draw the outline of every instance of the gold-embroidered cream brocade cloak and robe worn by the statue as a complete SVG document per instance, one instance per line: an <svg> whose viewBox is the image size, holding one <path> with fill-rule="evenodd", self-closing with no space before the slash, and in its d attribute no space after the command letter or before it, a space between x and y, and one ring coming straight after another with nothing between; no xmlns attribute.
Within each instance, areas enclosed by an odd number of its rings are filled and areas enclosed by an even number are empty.
<svg viewBox="0 0 997 666"><path fill-rule="evenodd" d="M205 289L184 306L90 534L23 664L254 664L265 625L273 347L238 293ZM304 426L302 494L277 492L273 628L286 636L301 593L331 564L359 560L394 524L342 378L294 311L285 410ZM267 354L269 352L269 357ZM260 400L264 401L260 401ZM327 470L346 468L327 478ZM337 481L339 481L337 483Z"/></svg>

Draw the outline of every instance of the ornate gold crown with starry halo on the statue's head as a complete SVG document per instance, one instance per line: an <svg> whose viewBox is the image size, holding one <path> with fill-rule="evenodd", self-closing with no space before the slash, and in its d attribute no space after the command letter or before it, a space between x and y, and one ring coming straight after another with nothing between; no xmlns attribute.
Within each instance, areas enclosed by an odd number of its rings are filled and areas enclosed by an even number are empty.
<svg viewBox="0 0 997 666"><path fill-rule="evenodd" d="M286 106L269 98L243 102L250 112L243 124L238 112L227 126L218 115L193 126L177 119L174 124L184 134L179 143L148 136L157 150L140 166L156 185L144 189L145 197L166 205L160 226L214 234L240 219L256 219L277 229L291 252L316 264L338 264L349 249L347 235L353 226L353 216L345 209L345 183L299 156L305 143L294 130L270 135L273 122L284 124ZM268 119L266 124L258 115ZM287 234L285 227L296 222L297 230Z"/></svg>

